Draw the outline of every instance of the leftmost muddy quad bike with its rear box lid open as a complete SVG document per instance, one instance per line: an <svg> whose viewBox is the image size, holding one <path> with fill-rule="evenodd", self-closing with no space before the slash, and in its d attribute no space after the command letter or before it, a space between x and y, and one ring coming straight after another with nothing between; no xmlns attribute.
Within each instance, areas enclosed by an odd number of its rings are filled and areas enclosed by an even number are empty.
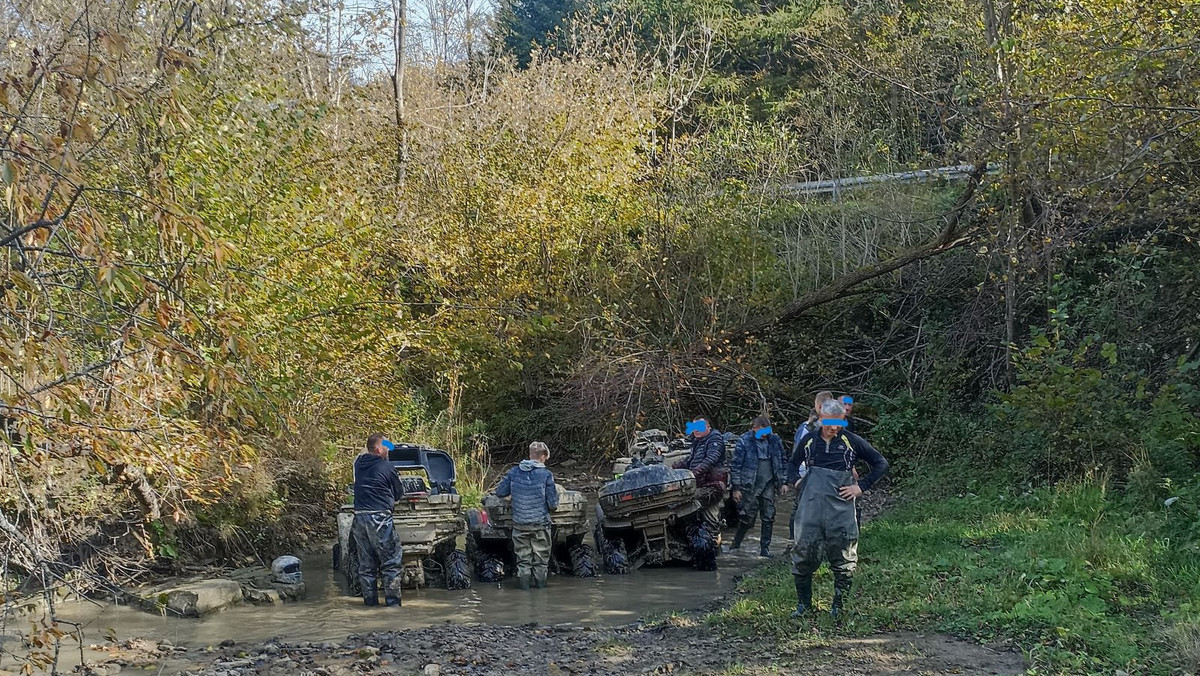
<svg viewBox="0 0 1200 676"><path fill-rule="evenodd" d="M457 549L466 528L462 497L455 490L455 465L444 450L415 444L395 444L388 461L400 473L404 496L396 501L392 519L403 548L406 588L444 586L448 590L470 587L467 554ZM346 591L358 596L359 552L350 531L354 505L343 504L337 513L337 544L334 568L346 581Z"/></svg>

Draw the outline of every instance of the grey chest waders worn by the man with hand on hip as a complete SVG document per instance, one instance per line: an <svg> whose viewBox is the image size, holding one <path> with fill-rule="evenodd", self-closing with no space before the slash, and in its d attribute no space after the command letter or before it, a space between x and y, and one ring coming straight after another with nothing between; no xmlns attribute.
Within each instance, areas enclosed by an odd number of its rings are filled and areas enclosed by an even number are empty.
<svg viewBox="0 0 1200 676"><path fill-rule="evenodd" d="M854 499L842 499L838 489L854 485L851 472L822 467L809 468L796 496L792 548L792 575L796 579L797 605L793 617L812 608L812 574L828 561L833 572L834 617L850 594L854 567L858 564L858 518Z"/></svg>

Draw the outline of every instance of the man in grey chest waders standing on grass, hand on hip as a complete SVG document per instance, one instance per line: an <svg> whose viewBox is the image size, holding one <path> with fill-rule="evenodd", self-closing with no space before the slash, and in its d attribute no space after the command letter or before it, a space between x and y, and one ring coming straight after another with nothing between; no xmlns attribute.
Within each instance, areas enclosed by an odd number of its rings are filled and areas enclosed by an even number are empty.
<svg viewBox="0 0 1200 676"><path fill-rule="evenodd" d="M847 432L846 408L840 401L821 406L820 433L804 441L808 474L796 497L796 544L792 548L792 575L796 579L796 612L812 608L812 574L823 561L833 572L832 615L838 617L850 596L858 564L858 518L856 502L888 471L888 461L863 437ZM871 471L854 480L854 461L862 459Z"/></svg>

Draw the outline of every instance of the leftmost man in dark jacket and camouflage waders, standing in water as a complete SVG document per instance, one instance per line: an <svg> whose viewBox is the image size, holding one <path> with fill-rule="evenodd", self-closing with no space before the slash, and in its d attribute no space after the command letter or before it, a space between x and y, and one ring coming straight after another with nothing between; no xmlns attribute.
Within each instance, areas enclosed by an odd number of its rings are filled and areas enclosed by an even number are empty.
<svg viewBox="0 0 1200 676"><path fill-rule="evenodd" d="M388 461L392 443L383 435L367 437L367 451L354 460L354 525L350 537L359 548L359 581L362 602L379 605L376 580L383 578L383 594L388 605L400 605L401 560L400 536L391 519L396 499L404 495L400 475Z"/></svg>

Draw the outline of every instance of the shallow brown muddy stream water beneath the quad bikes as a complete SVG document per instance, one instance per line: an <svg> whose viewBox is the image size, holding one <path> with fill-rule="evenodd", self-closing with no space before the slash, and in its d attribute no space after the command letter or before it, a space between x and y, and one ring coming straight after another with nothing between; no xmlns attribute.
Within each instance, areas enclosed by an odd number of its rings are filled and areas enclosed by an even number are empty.
<svg viewBox="0 0 1200 676"><path fill-rule="evenodd" d="M782 505L781 505L782 507ZM757 528L755 528L757 530ZM786 520L775 525L778 554L787 537ZM728 542L732 533L726 533ZM593 579L552 576L546 590L522 592L511 580L504 585L476 582L467 591L406 591L401 609L365 608L361 599L343 596L330 566L329 551L304 557L307 598L277 606L235 606L199 618L160 617L126 606L67 604L60 616L80 622L89 641L100 641L109 629L120 639L142 636L175 645L203 647L233 639L265 641L341 641L348 634L414 629L442 623L508 624L625 624L638 618L702 606L728 593L734 580L762 562L758 540L748 537L743 551L725 552L719 569L700 573L690 568L642 568L629 575Z"/></svg>

